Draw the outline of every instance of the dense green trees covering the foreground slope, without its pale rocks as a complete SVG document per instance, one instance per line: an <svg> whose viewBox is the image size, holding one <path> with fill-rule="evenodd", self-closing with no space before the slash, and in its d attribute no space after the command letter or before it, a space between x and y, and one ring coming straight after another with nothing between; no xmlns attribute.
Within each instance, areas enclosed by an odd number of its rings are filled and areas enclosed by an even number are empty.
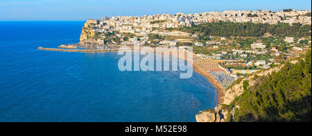
<svg viewBox="0 0 312 136"><path fill-rule="evenodd" d="M232 102L239 106L233 121L311 121L311 50L296 60L258 77L257 85L244 82L243 94Z"/></svg>

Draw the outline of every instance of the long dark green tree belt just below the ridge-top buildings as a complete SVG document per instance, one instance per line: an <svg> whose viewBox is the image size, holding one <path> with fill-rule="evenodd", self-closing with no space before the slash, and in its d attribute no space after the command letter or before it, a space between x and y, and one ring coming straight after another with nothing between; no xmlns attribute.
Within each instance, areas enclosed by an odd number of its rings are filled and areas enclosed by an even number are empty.
<svg viewBox="0 0 312 136"><path fill-rule="evenodd" d="M202 37L206 36L219 36L219 37L261 37L265 33L278 35L279 37L285 36L311 36L311 26L301 24L279 23L271 24L254 24L252 22L236 23L236 22L212 22L206 24L199 24L192 27L179 28L180 31L187 33L202 33Z"/></svg>

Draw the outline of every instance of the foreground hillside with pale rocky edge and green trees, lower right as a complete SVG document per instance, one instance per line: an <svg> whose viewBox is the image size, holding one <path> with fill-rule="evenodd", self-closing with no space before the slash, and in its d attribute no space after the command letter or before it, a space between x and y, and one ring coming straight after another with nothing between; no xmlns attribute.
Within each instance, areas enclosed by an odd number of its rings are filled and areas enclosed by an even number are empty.
<svg viewBox="0 0 312 136"><path fill-rule="evenodd" d="M224 104L200 112L196 120L311 121L311 51L241 79L226 92ZM223 119L217 119L220 117Z"/></svg>

